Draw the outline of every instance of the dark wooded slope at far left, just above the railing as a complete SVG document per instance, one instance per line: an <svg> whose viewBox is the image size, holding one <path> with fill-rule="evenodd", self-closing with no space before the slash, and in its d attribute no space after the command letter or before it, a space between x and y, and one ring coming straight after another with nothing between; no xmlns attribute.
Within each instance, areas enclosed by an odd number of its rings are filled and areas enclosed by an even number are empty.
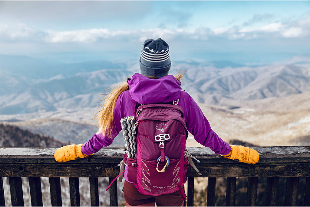
<svg viewBox="0 0 310 207"><path fill-rule="evenodd" d="M17 126L0 123L1 147L61 147L68 143L40 134L34 134Z"/></svg>

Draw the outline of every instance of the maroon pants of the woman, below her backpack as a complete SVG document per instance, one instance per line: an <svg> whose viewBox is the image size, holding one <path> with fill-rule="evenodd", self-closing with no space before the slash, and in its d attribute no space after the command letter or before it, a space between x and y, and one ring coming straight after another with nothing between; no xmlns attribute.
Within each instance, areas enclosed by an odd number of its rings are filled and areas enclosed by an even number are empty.
<svg viewBox="0 0 310 207"><path fill-rule="evenodd" d="M183 201L179 190L160 196L149 196L140 193L134 184L125 180L123 192L124 198L129 205L143 205L156 202L157 206L182 206L182 204L186 206L186 201Z"/></svg>

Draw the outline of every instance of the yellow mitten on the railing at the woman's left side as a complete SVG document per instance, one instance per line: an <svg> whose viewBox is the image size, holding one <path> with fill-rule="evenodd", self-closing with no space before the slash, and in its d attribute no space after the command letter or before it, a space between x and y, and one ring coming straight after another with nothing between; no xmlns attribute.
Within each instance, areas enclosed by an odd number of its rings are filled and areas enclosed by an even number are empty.
<svg viewBox="0 0 310 207"><path fill-rule="evenodd" d="M67 162L76 158L85 158L92 154L86 155L82 153L82 145L67 145L60 147L54 153L54 158L57 162Z"/></svg>

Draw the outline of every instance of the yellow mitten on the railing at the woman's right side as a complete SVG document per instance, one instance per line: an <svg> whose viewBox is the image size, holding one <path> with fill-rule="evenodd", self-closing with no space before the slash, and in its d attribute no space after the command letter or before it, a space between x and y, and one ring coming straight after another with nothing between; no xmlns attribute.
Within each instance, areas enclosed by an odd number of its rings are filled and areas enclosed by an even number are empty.
<svg viewBox="0 0 310 207"><path fill-rule="evenodd" d="M230 153L222 155L224 158L237 159L242 163L255 164L259 161L259 154L256 150L249 147L229 145L231 147Z"/></svg>

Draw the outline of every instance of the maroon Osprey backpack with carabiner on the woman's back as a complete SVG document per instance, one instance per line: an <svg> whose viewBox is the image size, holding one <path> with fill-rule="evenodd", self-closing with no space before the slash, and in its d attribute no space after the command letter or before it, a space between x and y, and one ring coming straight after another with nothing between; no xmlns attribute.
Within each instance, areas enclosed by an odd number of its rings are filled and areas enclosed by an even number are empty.
<svg viewBox="0 0 310 207"><path fill-rule="evenodd" d="M136 156L124 155L127 180L146 195L158 196L180 190L185 201L182 187L187 179L185 142L188 131L183 108L176 101L174 105L141 105L133 131L136 131Z"/></svg>

